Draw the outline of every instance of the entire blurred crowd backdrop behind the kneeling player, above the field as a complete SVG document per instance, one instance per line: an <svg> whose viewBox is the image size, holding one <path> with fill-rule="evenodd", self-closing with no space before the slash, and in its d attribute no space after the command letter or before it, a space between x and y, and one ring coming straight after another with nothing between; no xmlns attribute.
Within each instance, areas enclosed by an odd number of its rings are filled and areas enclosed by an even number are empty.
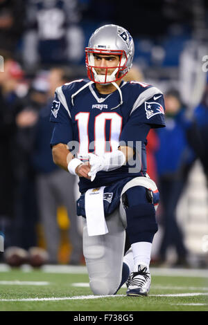
<svg viewBox="0 0 208 325"><path fill-rule="evenodd" d="M165 95L166 128L147 147L161 196L152 263L207 266L206 0L0 0L0 261L84 263L77 182L53 163L49 115L55 88L86 77L85 46L104 24L134 38L125 80Z"/></svg>

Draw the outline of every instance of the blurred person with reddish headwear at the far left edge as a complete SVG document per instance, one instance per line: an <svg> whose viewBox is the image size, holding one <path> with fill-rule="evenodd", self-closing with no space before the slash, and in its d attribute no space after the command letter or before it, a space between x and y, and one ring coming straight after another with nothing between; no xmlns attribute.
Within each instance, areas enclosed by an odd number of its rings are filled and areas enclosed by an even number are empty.
<svg viewBox="0 0 208 325"><path fill-rule="evenodd" d="M4 71L0 73L0 227L5 245L10 245L9 226L15 215L15 138L19 81L23 71L10 55L3 53Z"/></svg>

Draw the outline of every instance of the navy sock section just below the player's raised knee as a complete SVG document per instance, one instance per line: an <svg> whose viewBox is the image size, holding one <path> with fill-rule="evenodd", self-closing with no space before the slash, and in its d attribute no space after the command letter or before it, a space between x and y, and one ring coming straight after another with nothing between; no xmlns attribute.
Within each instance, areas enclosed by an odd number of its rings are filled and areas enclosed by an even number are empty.
<svg viewBox="0 0 208 325"><path fill-rule="evenodd" d="M151 203L133 205L125 210L127 218L127 232L130 243L139 241L153 242L153 236L157 232L155 219L155 207Z"/></svg>

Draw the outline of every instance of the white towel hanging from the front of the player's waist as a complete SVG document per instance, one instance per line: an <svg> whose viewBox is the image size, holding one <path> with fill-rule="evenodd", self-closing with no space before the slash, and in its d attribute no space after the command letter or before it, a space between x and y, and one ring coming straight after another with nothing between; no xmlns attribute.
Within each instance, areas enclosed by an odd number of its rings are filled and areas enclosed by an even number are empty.
<svg viewBox="0 0 208 325"><path fill-rule="evenodd" d="M103 207L104 188L105 186L88 189L85 193L85 214L89 236L98 236L108 232Z"/></svg>

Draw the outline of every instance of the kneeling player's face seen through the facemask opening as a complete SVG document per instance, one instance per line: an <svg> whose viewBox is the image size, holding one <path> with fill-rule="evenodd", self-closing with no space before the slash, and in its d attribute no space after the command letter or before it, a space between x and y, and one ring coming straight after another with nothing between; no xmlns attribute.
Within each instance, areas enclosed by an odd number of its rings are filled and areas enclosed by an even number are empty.
<svg viewBox="0 0 208 325"><path fill-rule="evenodd" d="M96 68L96 73L98 75L105 75L106 68L107 69L107 75L111 75L116 68L116 66L119 66L119 55L94 55L94 65L98 66ZM112 67L112 68L111 68Z"/></svg>

